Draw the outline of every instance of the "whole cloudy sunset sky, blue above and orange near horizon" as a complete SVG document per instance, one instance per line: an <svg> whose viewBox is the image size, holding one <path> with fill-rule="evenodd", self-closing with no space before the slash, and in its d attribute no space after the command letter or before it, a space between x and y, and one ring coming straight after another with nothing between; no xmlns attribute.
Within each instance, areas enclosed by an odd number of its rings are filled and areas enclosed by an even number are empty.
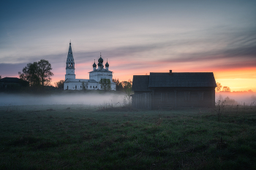
<svg viewBox="0 0 256 170"><path fill-rule="evenodd" d="M76 78L102 53L113 78L214 72L233 91L256 91L256 1L1 1L0 75L48 60L64 80L69 42Z"/></svg>

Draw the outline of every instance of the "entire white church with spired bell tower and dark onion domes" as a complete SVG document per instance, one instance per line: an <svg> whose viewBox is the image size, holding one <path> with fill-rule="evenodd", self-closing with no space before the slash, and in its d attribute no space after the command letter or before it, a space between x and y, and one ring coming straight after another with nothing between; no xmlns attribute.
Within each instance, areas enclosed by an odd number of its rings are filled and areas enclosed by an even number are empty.
<svg viewBox="0 0 256 170"><path fill-rule="evenodd" d="M108 61L105 64L105 69L103 66L103 59L100 54L98 60L98 69L94 60L92 65L93 70L89 72L88 79L76 79L75 78L75 61L72 53L71 42L69 43L69 52L67 53L67 66L64 81L64 90L104 90L102 84L99 83L102 79L110 80L110 90L116 90L116 83L112 81L113 72L108 70Z"/></svg>

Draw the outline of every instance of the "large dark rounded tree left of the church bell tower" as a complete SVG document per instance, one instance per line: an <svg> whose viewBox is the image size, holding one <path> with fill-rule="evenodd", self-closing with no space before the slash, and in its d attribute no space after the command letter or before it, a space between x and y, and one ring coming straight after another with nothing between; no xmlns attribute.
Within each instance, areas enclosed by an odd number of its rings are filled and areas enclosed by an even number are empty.
<svg viewBox="0 0 256 170"><path fill-rule="evenodd" d="M53 73L50 71L51 65L49 61L44 59L34 62L27 63L21 72L18 72L20 79L26 80L30 83L31 86L37 85L48 85L51 81L51 76Z"/></svg>

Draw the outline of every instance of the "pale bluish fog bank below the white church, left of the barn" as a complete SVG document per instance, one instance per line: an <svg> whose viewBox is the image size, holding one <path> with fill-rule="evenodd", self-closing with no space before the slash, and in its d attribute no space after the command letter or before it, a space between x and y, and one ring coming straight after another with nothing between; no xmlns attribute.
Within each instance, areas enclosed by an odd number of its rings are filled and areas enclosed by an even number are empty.
<svg viewBox="0 0 256 170"><path fill-rule="evenodd" d="M49 95L7 94L0 93L0 106L38 105L38 104L88 104L121 106L125 95L116 93L69 93Z"/></svg>

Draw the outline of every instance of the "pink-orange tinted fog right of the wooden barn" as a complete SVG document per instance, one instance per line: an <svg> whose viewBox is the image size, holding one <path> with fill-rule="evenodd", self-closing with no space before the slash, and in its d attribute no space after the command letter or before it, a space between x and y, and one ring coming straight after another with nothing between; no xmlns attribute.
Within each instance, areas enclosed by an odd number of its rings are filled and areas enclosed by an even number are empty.
<svg viewBox="0 0 256 170"><path fill-rule="evenodd" d="M256 103L256 93L234 93L234 92L220 92L215 94L215 100L225 100L225 98L230 98L236 102L231 101L230 105L255 105ZM253 103L255 101L255 103Z"/></svg>

